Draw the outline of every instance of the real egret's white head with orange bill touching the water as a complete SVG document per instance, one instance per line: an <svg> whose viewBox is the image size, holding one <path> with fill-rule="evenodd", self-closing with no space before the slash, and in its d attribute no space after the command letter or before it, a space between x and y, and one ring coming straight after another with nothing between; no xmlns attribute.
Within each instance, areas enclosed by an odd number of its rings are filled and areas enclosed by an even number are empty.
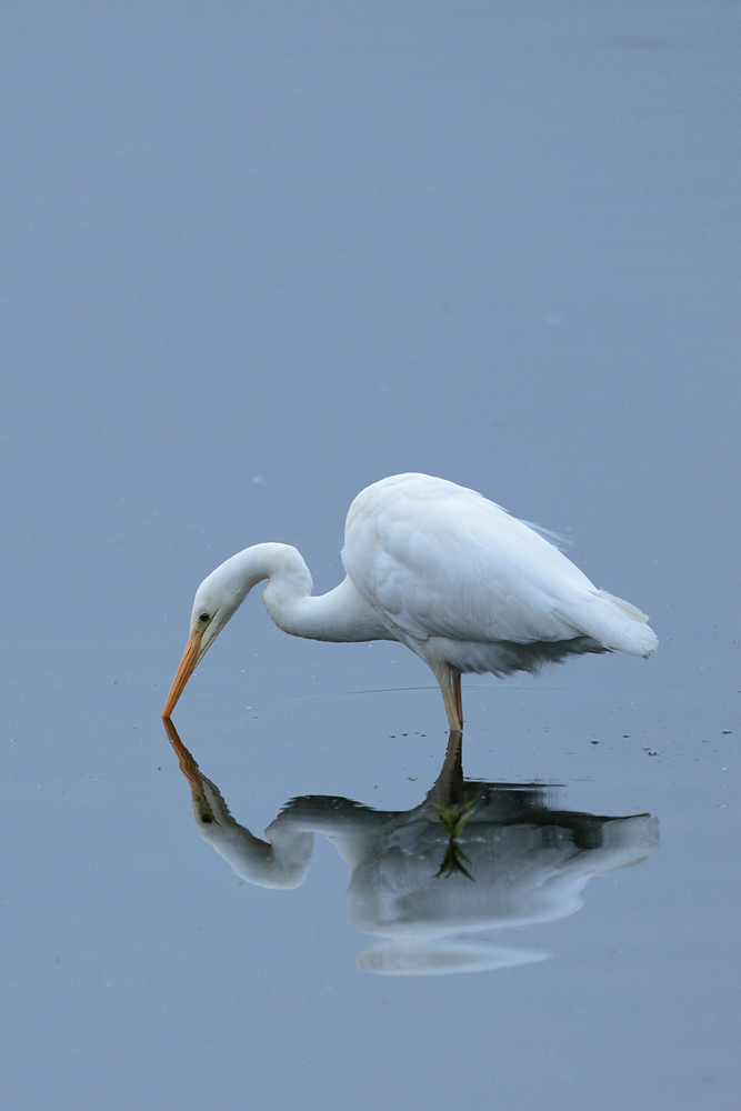
<svg viewBox="0 0 741 1111"><path fill-rule="evenodd" d="M166 719L172 713L197 664L203 659L248 593L244 577L239 573L237 559L238 557L232 557L218 567L203 579L196 591L190 617L190 637L162 710L162 717Z"/></svg>

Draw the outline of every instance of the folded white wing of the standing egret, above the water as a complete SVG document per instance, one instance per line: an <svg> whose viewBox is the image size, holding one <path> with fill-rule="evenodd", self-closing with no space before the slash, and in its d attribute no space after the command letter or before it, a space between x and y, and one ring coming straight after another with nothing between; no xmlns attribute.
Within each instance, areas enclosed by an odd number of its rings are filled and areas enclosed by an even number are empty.
<svg viewBox="0 0 741 1111"><path fill-rule="evenodd" d="M599 593L552 544L472 490L428 476L369 487L348 514L343 560L358 590L411 637L567 640Z"/></svg>

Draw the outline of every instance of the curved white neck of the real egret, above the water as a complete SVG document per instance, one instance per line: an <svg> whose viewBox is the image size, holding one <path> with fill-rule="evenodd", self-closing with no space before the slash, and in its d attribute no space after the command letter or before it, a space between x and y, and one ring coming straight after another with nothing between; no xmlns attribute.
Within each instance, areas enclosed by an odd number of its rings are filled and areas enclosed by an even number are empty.
<svg viewBox="0 0 741 1111"><path fill-rule="evenodd" d="M289 544L256 544L232 556L229 573L239 578L239 602L264 579L268 613L279 629L312 640L393 640L380 617L358 593L352 580L327 594L312 595L313 582L301 553ZM238 604L239 604L238 602Z"/></svg>

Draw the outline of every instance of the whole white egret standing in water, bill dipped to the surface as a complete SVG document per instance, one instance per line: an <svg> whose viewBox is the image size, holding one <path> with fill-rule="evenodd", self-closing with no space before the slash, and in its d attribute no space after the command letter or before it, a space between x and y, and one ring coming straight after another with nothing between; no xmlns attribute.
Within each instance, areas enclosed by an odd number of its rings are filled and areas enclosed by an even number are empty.
<svg viewBox="0 0 741 1111"><path fill-rule="evenodd" d="M252 587L284 632L313 640L398 640L432 669L451 729L461 673L509 675L583 652L648 655L647 617L598 590L543 536L481 494L429 474L397 474L358 494L344 526L347 577L312 597L296 548L256 544L196 591L190 639L162 712Z"/></svg>

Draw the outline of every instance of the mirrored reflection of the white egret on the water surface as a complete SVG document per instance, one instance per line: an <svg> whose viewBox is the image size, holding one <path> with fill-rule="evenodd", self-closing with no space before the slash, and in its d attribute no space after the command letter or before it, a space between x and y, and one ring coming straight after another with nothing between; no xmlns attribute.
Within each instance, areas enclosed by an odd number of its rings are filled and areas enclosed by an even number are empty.
<svg viewBox="0 0 741 1111"><path fill-rule="evenodd" d="M603 818L555 810L542 784L463 779L452 732L437 782L408 811L349 799L293 799L263 841L229 813L172 722L168 735L193 797L198 831L238 875L266 888L297 888L313 834L324 833L350 865L350 922L385 939L358 958L367 972L475 972L548 954L497 943L497 931L573 914L592 875L638 863L657 848L649 814Z"/></svg>

